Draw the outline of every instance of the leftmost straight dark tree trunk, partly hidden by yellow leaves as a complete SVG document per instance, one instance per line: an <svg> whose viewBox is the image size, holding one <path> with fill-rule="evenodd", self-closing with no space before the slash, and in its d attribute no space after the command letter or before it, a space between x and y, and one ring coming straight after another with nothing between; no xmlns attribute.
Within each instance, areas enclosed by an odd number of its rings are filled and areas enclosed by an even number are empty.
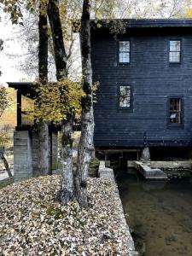
<svg viewBox="0 0 192 256"><path fill-rule="evenodd" d="M46 12L42 13L39 6L39 46L38 46L38 73L39 82L47 84L48 82L48 20ZM40 103L40 102L39 102ZM38 170L41 175L49 174L49 125L44 120L38 123Z"/></svg>

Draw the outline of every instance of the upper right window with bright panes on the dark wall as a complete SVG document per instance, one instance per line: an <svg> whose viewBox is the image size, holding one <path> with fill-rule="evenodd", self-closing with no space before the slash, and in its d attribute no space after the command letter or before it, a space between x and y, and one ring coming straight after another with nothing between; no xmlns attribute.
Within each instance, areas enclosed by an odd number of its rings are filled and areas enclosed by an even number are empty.
<svg viewBox="0 0 192 256"><path fill-rule="evenodd" d="M179 63L181 61L181 41L171 40L169 42L169 62Z"/></svg>

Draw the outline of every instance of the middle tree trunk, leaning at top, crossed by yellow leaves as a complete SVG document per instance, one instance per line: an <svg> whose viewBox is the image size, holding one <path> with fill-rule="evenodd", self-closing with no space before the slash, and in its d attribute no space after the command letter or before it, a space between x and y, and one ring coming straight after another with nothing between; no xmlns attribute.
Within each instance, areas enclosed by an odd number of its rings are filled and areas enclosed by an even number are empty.
<svg viewBox="0 0 192 256"><path fill-rule="evenodd" d="M49 24L51 28L54 51L56 77L58 81L67 78L67 54L63 42L59 1L49 0L48 4ZM73 188L73 115L61 124L61 202L67 204L74 197Z"/></svg>

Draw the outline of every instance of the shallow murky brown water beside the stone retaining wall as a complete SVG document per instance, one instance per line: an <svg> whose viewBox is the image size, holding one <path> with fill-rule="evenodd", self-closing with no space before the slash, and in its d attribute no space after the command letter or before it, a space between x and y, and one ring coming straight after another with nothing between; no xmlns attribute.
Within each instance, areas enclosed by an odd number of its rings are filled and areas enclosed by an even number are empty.
<svg viewBox="0 0 192 256"><path fill-rule="evenodd" d="M145 181L116 172L125 217L141 255L192 256L192 175Z"/></svg>

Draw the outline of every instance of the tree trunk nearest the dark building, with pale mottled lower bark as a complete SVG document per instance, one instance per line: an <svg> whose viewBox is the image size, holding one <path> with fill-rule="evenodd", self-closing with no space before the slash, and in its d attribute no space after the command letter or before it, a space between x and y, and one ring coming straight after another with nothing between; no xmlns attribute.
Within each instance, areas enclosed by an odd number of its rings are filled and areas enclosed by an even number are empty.
<svg viewBox="0 0 192 256"><path fill-rule="evenodd" d="M92 98L92 69L90 62L90 0L84 0L83 14L81 17L81 52L83 90L85 96L82 98L82 129L78 149L78 164L75 173L75 192L79 204L87 205L87 177L91 155L94 151L94 116Z"/></svg>

